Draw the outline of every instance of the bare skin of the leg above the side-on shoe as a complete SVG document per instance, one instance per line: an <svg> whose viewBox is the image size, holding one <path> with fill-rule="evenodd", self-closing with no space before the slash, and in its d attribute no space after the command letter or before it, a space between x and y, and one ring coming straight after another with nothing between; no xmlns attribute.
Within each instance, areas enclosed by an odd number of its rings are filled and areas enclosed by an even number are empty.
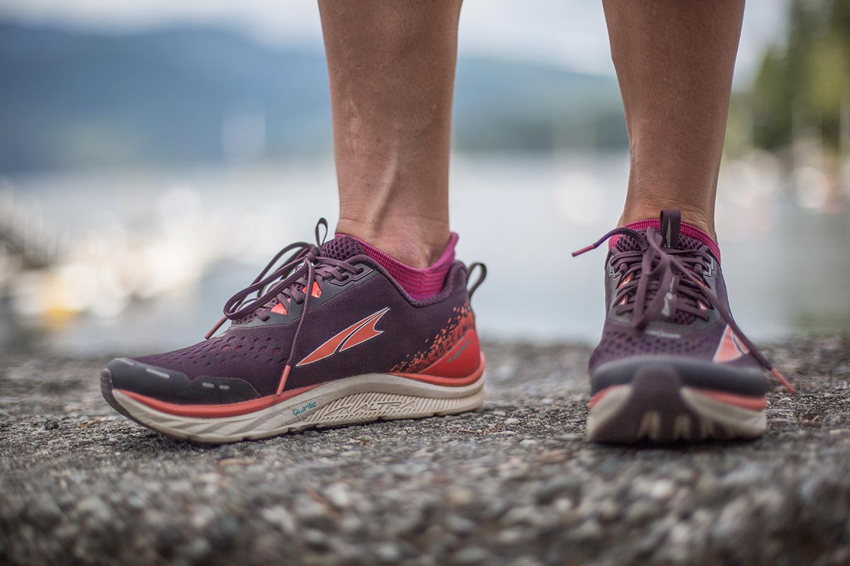
<svg viewBox="0 0 850 566"><path fill-rule="evenodd" d="M337 233L408 266L449 243L460 0L320 0L331 79Z"/></svg>

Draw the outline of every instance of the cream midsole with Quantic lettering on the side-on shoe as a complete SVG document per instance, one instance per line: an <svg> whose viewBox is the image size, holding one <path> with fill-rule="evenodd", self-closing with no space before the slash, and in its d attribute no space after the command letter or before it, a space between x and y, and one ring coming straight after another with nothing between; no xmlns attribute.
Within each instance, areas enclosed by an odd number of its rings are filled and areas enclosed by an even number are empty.
<svg viewBox="0 0 850 566"><path fill-rule="evenodd" d="M472 411L484 401L484 375L460 387L389 373L364 373L309 389L256 412L232 417L181 417L157 411L114 389L116 401L152 429L200 442L235 442L312 427Z"/></svg>

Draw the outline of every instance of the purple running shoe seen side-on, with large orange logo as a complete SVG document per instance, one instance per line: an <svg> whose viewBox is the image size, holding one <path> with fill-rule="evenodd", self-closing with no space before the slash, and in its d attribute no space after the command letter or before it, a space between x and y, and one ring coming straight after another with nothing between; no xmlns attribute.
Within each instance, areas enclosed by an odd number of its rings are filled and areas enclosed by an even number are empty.
<svg viewBox="0 0 850 566"><path fill-rule="evenodd" d="M478 407L484 356L469 300L484 266L456 261L439 294L414 300L354 238L321 244L322 227L316 244L281 249L231 297L205 341L111 361L106 401L150 429L212 443Z"/></svg>

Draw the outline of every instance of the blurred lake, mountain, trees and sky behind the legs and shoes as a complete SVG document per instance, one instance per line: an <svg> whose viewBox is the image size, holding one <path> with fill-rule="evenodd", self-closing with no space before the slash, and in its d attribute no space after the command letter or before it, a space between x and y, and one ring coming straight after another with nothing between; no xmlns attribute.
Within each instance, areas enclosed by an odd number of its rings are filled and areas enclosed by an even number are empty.
<svg viewBox="0 0 850 566"><path fill-rule="evenodd" d="M732 305L754 339L846 331L850 0L747 4L717 203ZM459 51L451 218L490 266L480 331L592 343L604 252L569 252L615 226L628 172L601 3L467 0ZM2 0L0 353L195 343L333 226L331 152L315 3Z"/></svg>

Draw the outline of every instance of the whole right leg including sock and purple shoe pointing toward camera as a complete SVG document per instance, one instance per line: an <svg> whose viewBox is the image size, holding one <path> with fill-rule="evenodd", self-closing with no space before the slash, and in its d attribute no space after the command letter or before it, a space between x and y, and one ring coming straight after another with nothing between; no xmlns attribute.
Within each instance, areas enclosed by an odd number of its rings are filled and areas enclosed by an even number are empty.
<svg viewBox="0 0 850 566"><path fill-rule="evenodd" d="M604 0L632 151L591 355L592 440L754 438L765 370L729 311L714 198L743 0Z"/></svg>

